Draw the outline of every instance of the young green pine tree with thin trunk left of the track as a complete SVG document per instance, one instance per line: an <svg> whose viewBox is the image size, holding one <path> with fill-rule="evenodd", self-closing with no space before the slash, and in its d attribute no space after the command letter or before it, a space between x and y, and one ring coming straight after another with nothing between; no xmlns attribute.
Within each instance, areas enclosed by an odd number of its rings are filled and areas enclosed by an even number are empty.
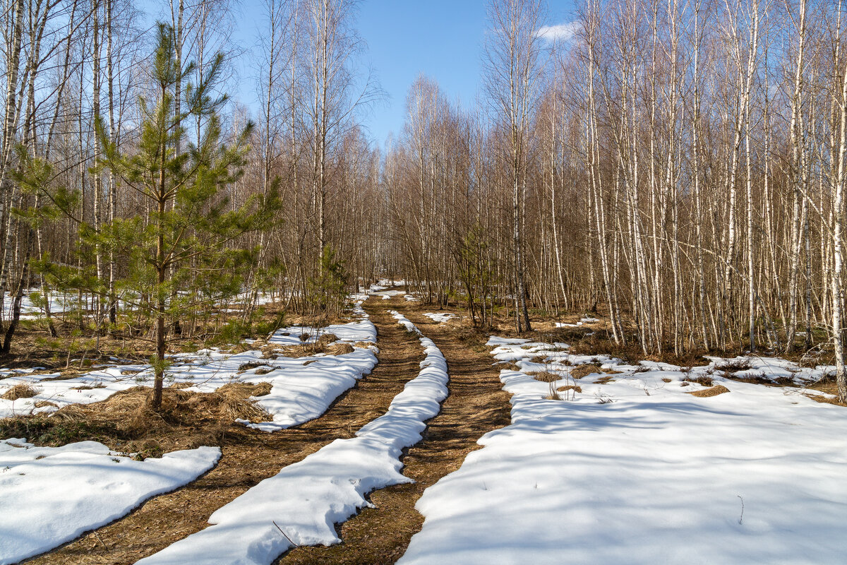
<svg viewBox="0 0 847 565"><path fill-rule="evenodd" d="M268 228L278 216L280 203L274 186L267 195L257 195L241 208L230 209L226 189L241 175L252 124L230 145L221 140L218 110L225 97L213 99L210 92L219 78L223 56L214 58L200 83L192 86L185 79L194 65L180 67L173 30L159 24L152 60L157 99L153 103L143 97L139 100L141 136L132 152L122 152L109 139L102 120L97 122L102 146L97 172L111 171L123 186L141 195L147 203L144 208L152 212L146 217L137 214L114 219L99 231L90 227L83 231L89 246L99 244L104 252L124 258L120 294L125 303L136 302L132 306L154 321L151 407L158 410L169 322L185 318L197 301L241 291L239 280L229 274L245 270L241 267L255 259L256 250L240 249L232 243L248 231ZM187 84L185 89L178 89L182 84ZM181 126L189 117L203 124L196 142L186 138ZM187 150L177 153L178 146ZM138 300L141 296L150 299Z"/></svg>

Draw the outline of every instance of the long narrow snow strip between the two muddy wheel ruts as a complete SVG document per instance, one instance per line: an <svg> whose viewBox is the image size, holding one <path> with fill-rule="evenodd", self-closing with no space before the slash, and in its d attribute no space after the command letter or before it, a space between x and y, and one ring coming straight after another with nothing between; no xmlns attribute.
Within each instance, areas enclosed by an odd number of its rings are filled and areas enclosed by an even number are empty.
<svg viewBox="0 0 847 565"><path fill-rule="evenodd" d="M395 318L409 323L399 314ZM421 440L426 420L440 412L447 396L446 360L428 338L420 341L426 352L421 371L394 397L387 413L356 437L335 440L263 480L214 512L209 518L213 526L139 564L268 565L292 542L340 543L334 524L369 506L369 491L411 482L400 473L402 450Z"/></svg>

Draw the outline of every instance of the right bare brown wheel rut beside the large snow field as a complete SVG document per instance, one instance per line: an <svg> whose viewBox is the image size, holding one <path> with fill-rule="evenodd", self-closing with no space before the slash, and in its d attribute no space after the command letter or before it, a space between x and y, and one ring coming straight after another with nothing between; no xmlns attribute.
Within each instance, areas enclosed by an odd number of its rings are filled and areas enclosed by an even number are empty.
<svg viewBox="0 0 847 565"><path fill-rule="evenodd" d="M468 453L479 449L476 441L482 435L510 423L509 395L501 389L499 372L491 367L482 337L461 340L455 328L433 323L420 315L424 310L419 307L407 303L394 307L435 341L450 374L450 396L429 421L424 440L403 459L403 474L415 483L374 491L370 500L376 507L364 509L338 528L340 545L297 548L281 557L278 565L396 562L424 522L414 508L424 489L461 467Z"/></svg>

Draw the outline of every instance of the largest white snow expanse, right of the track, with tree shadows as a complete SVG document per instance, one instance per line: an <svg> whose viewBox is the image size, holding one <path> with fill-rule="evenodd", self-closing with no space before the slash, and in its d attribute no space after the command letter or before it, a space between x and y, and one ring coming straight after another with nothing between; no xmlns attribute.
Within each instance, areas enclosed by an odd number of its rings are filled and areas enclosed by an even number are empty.
<svg viewBox="0 0 847 565"><path fill-rule="evenodd" d="M483 449L424 491L424 528L403 565L844 561L843 407L800 387L726 379L724 359L683 370L526 340L489 345L521 369L501 371L512 424L484 435ZM540 355L545 363L529 361ZM772 378L824 370L747 361ZM620 374L568 376L567 363L589 362ZM582 392L546 400L550 386L527 374L539 370ZM685 380L699 377L730 392L685 394L708 388Z"/></svg>

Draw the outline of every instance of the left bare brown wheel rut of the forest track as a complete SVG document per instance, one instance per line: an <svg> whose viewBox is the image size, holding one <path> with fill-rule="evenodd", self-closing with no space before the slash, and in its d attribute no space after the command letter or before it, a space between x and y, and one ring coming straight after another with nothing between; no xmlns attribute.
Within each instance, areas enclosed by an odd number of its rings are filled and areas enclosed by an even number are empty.
<svg viewBox="0 0 847 565"><path fill-rule="evenodd" d="M280 468L301 461L336 438L352 437L357 429L385 413L403 385L418 375L424 354L418 341L386 313L386 307L401 307L400 301L371 298L364 306L377 326L379 363L323 416L273 434L235 424L230 439L221 446L218 466L208 474L26 563L134 563L205 528L212 512L279 473Z"/></svg>

